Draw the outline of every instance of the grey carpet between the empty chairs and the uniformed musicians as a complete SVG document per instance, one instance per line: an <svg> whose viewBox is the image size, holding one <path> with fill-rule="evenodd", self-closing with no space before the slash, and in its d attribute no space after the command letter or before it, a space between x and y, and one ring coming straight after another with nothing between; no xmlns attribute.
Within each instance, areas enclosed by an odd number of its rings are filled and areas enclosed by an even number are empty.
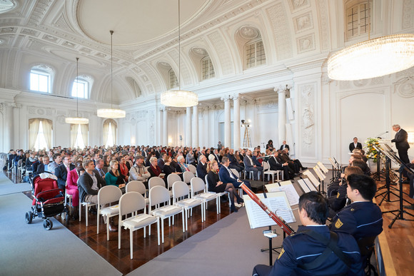
<svg viewBox="0 0 414 276"><path fill-rule="evenodd" d="M291 224L293 229L297 225ZM283 232L273 228L279 235L273 246L281 245ZM251 229L246 209L241 208L128 275L251 275L256 264L268 265L268 252L261 252L268 248L265 229ZM273 262L277 256L273 253Z"/></svg>

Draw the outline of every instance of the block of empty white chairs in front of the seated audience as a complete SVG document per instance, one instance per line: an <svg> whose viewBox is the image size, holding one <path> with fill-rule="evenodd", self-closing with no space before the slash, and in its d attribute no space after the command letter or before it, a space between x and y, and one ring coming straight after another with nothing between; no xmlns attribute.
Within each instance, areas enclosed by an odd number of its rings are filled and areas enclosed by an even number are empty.
<svg viewBox="0 0 414 276"><path fill-rule="evenodd" d="M104 217L106 223L106 239L109 240L109 221L118 215L118 248L121 248L121 228L130 230L131 259L133 258L133 231L143 228L143 236L146 237L146 226L148 235L151 235L151 225L157 224L158 245L164 242L163 220L168 218L168 225L174 224L174 215L181 213L183 232L188 230L188 217L193 208L201 206L201 221L206 220L206 208L208 201L216 200L217 213L221 212L219 198L227 193L211 193L201 178L192 177L186 172L188 183L176 175L168 180L168 188L162 178L153 177L148 182L148 189L141 181L131 181L126 185L126 193L122 195L121 190L112 185L105 186L99 190L97 204L97 233L99 233L100 216ZM170 184L171 183L171 184ZM147 197L148 194L148 197ZM117 205L112 205L118 202ZM86 226L88 226L88 209L94 203L81 203L79 206L79 221L81 220L81 206L86 207ZM109 205L109 206L108 206ZM108 206L108 207L106 207ZM148 209L147 209L148 206ZM130 215L127 218L127 215ZM192 215L192 214L191 214Z"/></svg>

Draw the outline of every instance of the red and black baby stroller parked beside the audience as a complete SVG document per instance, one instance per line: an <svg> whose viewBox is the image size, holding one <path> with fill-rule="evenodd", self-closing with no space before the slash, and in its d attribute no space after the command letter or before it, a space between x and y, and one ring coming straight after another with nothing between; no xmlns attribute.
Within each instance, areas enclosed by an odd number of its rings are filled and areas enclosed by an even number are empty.
<svg viewBox="0 0 414 276"><path fill-rule="evenodd" d="M36 175L31 180L31 191L34 196L33 206L31 211L26 213L26 223L30 224L31 220L38 216L44 219L44 229L51 230L53 223L49 218L64 212L67 213L64 205L64 190L58 188L56 180L51 178L42 179L40 175Z"/></svg>

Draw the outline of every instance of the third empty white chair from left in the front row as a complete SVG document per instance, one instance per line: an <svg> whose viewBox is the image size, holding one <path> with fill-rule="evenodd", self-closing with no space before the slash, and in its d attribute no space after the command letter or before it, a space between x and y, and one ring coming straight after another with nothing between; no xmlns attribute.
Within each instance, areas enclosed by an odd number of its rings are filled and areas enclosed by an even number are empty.
<svg viewBox="0 0 414 276"><path fill-rule="evenodd" d="M198 205L201 207L201 222L204 221L203 200L190 198L190 189L188 189L188 185L183 181L176 181L173 184L173 204L183 208L186 216L186 230L188 230L188 210Z"/></svg>

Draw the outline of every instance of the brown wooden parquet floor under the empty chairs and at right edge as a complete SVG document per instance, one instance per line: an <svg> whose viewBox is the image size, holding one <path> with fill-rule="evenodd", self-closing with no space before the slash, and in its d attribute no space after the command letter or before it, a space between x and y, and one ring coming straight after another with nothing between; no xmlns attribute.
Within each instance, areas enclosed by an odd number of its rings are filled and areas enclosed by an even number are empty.
<svg viewBox="0 0 414 276"><path fill-rule="evenodd" d="M14 183L19 183L19 179L9 175L9 178ZM384 185L384 181L378 181L378 188ZM392 185L393 188L398 188L398 185ZM403 191L408 194L408 184L403 184ZM377 195L383 193L384 190L378 190ZM380 209L385 212L389 210L398 210L399 193L394 191L396 195L390 195L390 202L383 200L380 205ZM27 193L30 197L30 193ZM380 203L383 196L375 198L376 203ZM414 200L408 198L408 195L403 195L403 198L409 203L414 203ZM388 199L388 197L386 198ZM403 205L409 203L404 202ZM414 210L406 210L408 213L414 215ZM201 230L206 229L208 226L216 223L221 218L225 218L229 215L230 210L228 203L221 203L221 214L216 214L216 204L209 203L206 213L206 221L201 223L201 211L198 208L193 210L193 216L188 218L188 231L183 233L181 217L176 218L175 225L168 227L168 220L164 224L164 238L165 242L160 246L157 245L156 228L151 228L152 235L143 238L143 230L137 230L133 234L133 260L130 259L130 247L129 247L129 233L126 230L121 232L121 250L118 250L118 232L111 232L109 240L106 240L106 227L103 220L100 221L100 233L96 234L96 215L89 213L89 226L86 228L85 223L85 211L82 212L82 221L69 220L67 223L65 220L61 220L66 228L71 230L77 237L83 240L86 245L89 245L95 250L101 257L104 257L106 261L111 263L113 267L122 272L124 275L128 272L135 270L137 267L152 260L154 257L161 255L163 252L178 245L183 240L188 239L192 235L195 235ZM383 214L383 232L379 235L378 239L383 255L383 262L385 265L386 275L413 275L414 269L414 221L410 220L395 220L392 228L388 225L395 218L395 213ZM404 213L403 218L414 219L414 217ZM117 224L117 222L116 222Z"/></svg>

